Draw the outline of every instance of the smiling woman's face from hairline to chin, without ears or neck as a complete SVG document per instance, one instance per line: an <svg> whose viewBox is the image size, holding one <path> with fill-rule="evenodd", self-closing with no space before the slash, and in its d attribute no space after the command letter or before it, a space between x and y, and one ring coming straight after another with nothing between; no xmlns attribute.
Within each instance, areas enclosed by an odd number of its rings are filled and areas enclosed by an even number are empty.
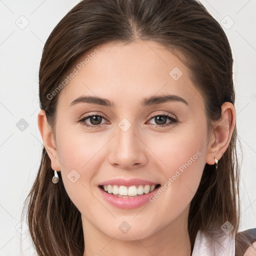
<svg viewBox="0 0 256 256"><path fill-rule="evenodd" d="M83 226L122 240L142 239L187 219L205 165L203 97L188 68L156 42L95 49L69 69L72 78L58 92L59 169ZM74 101L84 96L112 104ZM160 185L150 196L109 197L99 184L112 178ZM119 180L108 183L120 186ZM122 227L132 232L120 232Z"/></svg>

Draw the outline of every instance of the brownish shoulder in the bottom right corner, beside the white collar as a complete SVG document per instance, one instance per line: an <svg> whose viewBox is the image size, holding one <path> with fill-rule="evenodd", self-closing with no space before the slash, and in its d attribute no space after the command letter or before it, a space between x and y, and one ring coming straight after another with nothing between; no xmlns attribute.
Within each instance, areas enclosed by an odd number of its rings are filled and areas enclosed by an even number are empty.
<svg viewBox="0 0 256 256"><path fill-rule="evenodd" d="M235 236L235 256L256 255L256 228L238 232Z"/></svg>

